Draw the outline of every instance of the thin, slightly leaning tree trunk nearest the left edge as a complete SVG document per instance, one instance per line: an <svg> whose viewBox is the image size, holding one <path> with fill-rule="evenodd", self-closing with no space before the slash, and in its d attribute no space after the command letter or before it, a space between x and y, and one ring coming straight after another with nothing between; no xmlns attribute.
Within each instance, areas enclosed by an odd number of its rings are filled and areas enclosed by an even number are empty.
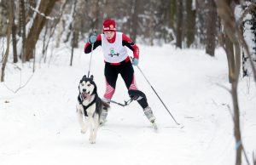
<svg viewBox="0 0 256 165"><path fill-rule="evenodd" d="M10 43L10 35L11 35L11 31L12 31L12 24L13 24L13 14L14 14L14 10L13 10L13 1L9 1L9 25L8 25L8 30L7 30L7 48L5 51L5 54L3 56L3 65L2 65L2 72L1 72L1 82L4 81L4 71L5 71L5 66L8 60L8 56L9 56L9 43Z"/></svg>

